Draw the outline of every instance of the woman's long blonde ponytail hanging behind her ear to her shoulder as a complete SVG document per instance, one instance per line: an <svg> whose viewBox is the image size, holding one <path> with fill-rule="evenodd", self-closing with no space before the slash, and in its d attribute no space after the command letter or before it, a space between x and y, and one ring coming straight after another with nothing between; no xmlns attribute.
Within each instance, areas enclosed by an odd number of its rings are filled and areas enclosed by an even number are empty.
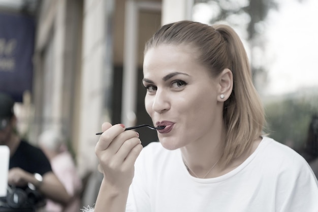
<svg viewBox="0 0 318 212"><path fill-rule="evenodd" d="M224 123L227 128L225 164L250 149L252 142L261 136L265 124L264 108L252 83L248 57L235 31L227 25L214 25L227 43L230 70L233 73L233 92L224 104Z"/></svg>

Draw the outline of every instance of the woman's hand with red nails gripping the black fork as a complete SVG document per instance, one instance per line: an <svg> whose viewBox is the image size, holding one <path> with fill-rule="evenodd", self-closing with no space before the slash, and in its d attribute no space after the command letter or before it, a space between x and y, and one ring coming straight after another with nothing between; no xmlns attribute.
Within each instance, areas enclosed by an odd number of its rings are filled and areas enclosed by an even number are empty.
<svg viewBox="0 0 318 212"><path fill-rule="evenodd" d="M95 152L103 169L104 180L115 188L127 189L134 177L134 164L142 145L139 134L124 131L123 125L104 123Z"/></svg>

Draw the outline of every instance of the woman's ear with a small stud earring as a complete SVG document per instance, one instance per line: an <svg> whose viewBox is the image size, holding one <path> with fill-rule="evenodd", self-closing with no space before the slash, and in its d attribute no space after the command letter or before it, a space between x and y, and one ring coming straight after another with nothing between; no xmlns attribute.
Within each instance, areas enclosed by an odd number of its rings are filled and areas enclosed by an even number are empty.
<svg viewBox="0 0 318 212"><path fill-rule="evenodd" d="M232 94L233 73L230 69L224 69L218 76L218 97L217 100L225 102ZM223 96L222 96L223 95Z"/></svg>

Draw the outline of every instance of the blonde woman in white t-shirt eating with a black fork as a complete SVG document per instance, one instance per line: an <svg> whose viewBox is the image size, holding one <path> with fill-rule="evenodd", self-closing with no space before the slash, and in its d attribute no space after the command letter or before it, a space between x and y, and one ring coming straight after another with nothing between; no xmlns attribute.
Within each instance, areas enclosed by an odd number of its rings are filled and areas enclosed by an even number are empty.
<svg viewBox="0 0 318 212"><path fill-rule="evenodd" d="M308 164L262 135L262 103L231 27L163 26L146 44L143 73L146 110L165 126L160 143L142 149L137 132L103 124L94 211L318 211Z"/></svg>

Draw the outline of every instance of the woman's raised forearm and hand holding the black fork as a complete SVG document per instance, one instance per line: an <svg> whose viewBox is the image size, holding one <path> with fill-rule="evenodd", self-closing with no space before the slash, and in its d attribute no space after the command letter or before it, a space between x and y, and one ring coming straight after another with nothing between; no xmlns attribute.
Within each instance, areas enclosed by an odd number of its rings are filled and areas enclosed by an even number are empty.
<svg viewBox="0 0 318 212"><path fill-rule="evenodd" d="M104 123L102 130L105 132L96 145L96 155L104 178L94 211L124 212L141 141L137 132L124 131L121 125Z"/></svg>

